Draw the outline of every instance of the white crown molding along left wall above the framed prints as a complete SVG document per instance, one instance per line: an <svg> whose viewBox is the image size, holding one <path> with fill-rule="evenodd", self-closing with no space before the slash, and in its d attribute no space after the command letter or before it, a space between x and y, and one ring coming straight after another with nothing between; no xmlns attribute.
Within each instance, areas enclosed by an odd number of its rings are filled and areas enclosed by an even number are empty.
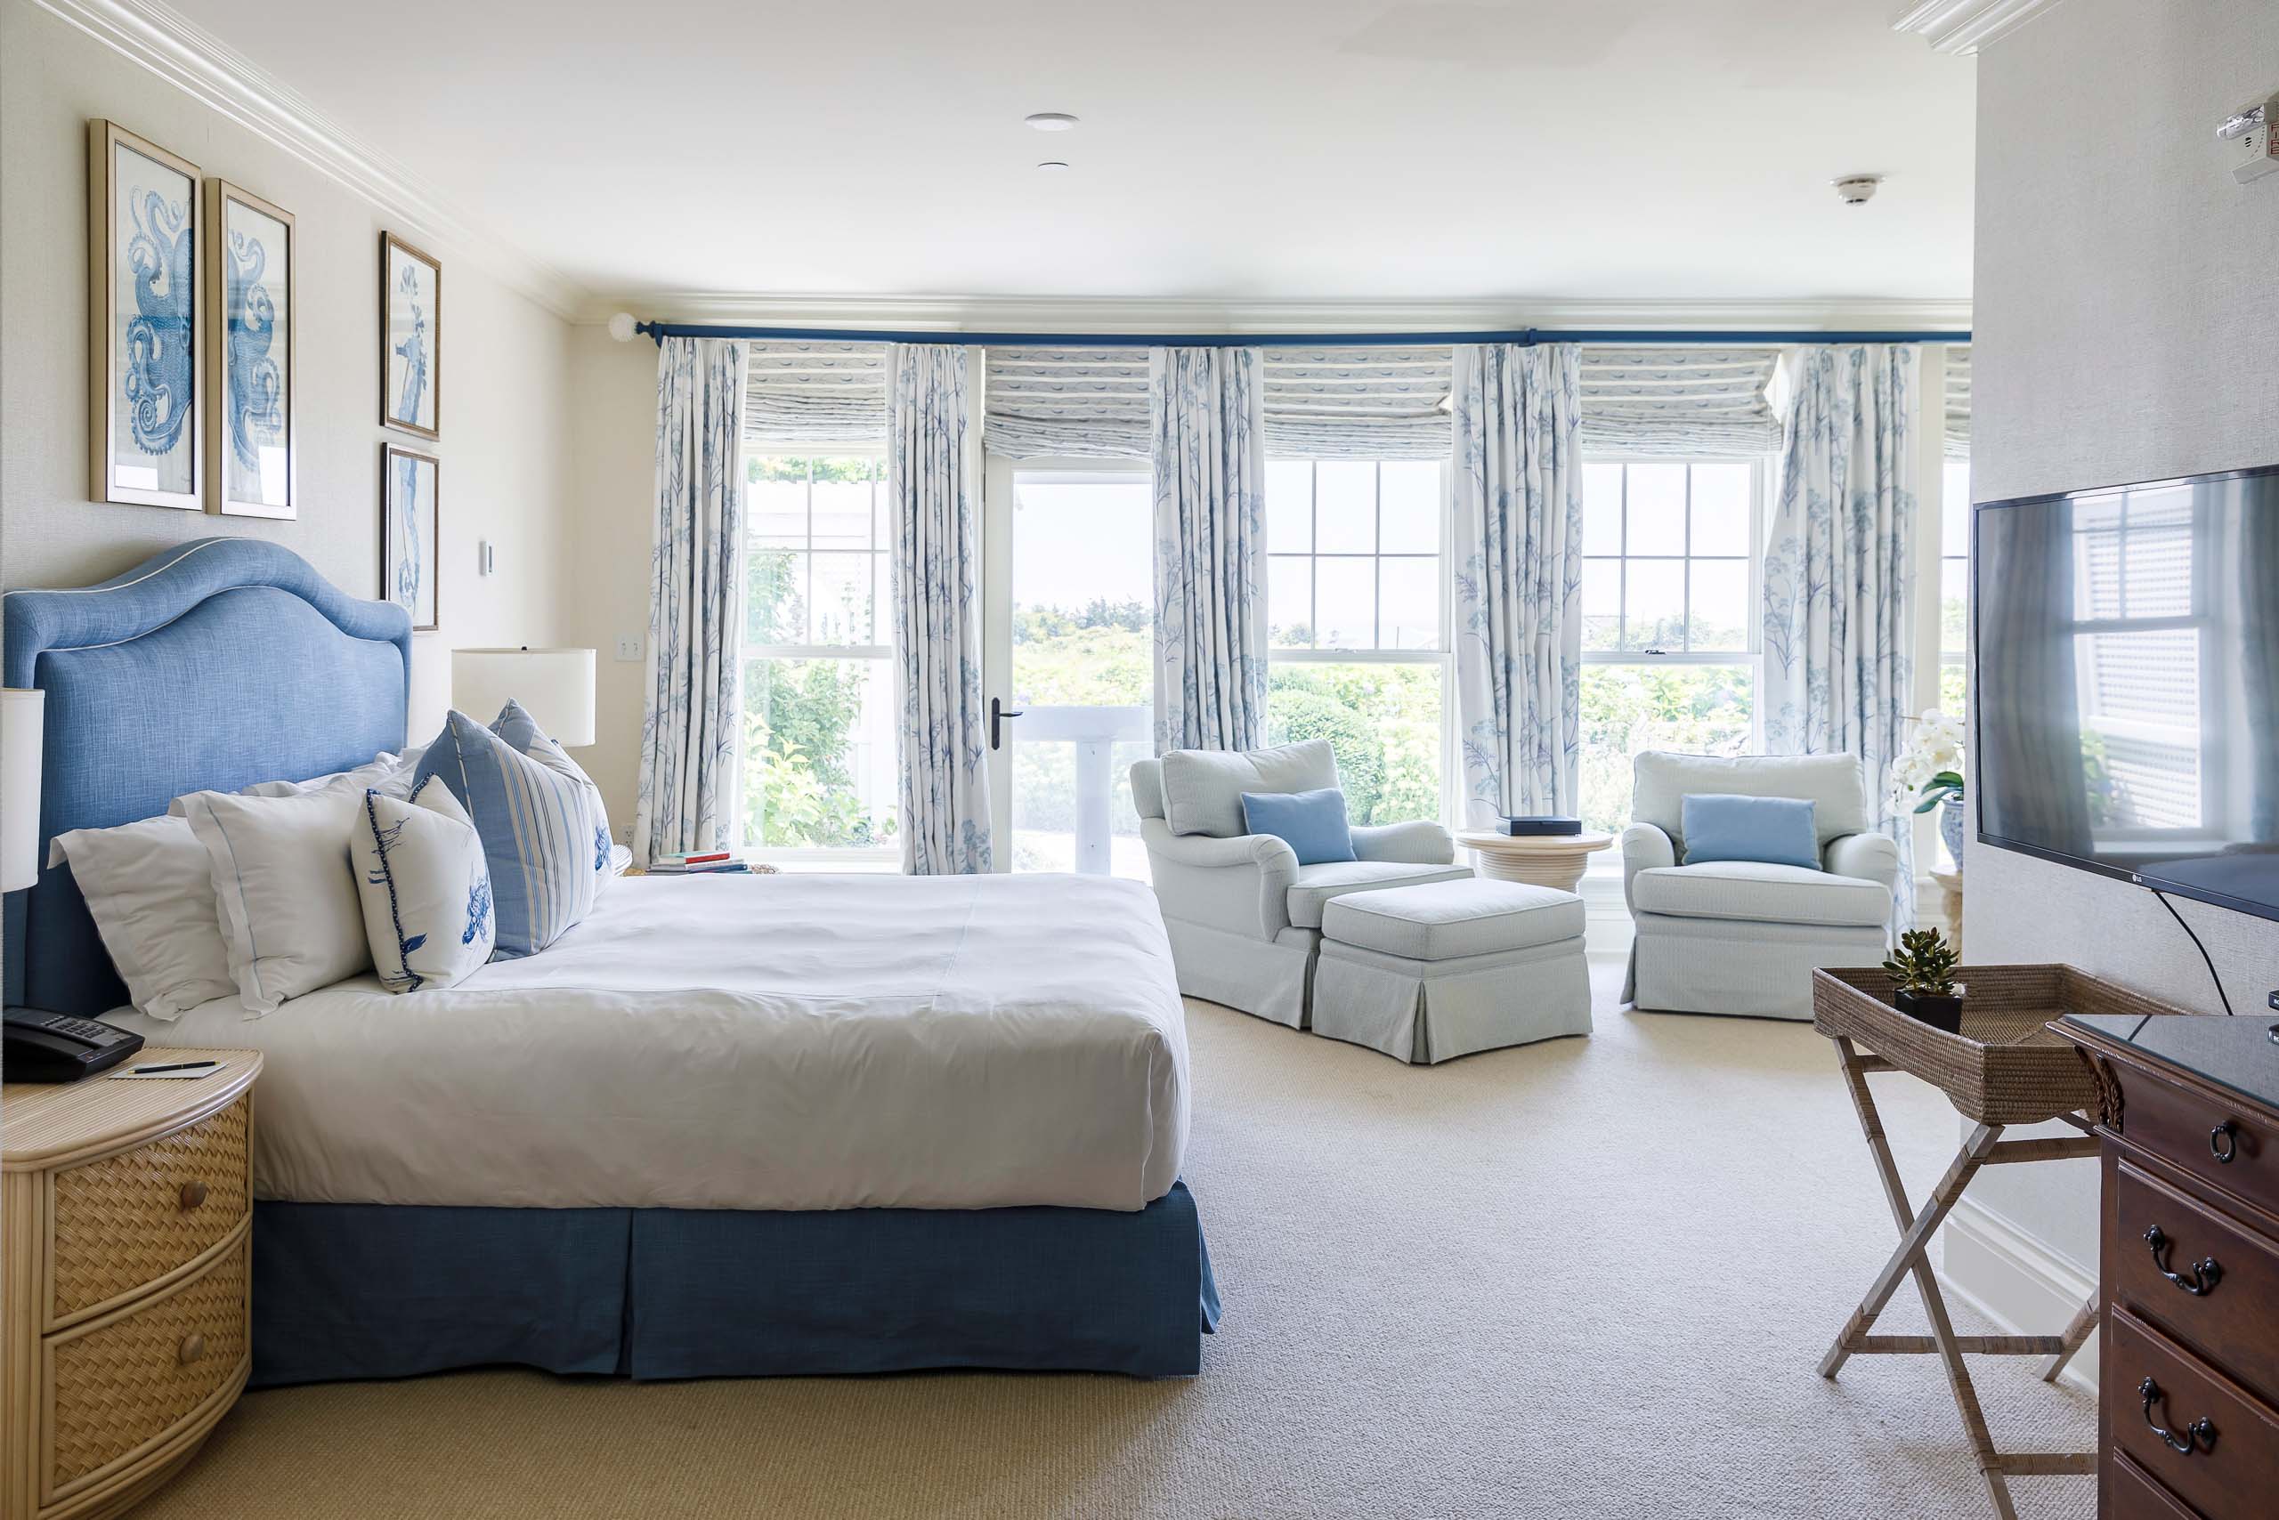
<svg viewBox="0 0 2279 1520"><path fill-rule="evenodd" d="M173 7L160 0L34 0L34 5L337 180L401 221L401 230L419 246L474 262L565 321L590 303L586 287L469 221L403 164L351 137Z"/></svg>

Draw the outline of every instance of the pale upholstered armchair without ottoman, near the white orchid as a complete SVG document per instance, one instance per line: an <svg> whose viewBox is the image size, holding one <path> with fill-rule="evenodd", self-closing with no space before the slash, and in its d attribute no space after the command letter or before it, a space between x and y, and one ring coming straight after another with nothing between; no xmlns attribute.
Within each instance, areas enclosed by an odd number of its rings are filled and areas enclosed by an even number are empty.
<svg viewBox="0 0 2279 1520"><path fill-rule="evenodd" d="M1623 830L1623 898L1636 939L1623 996L1643 1010L1812 1016L1814 966L1876 966L1889 948L1898 845L1869 832L1851 754L1641 754ZM1803 798L1821 871L1684 859L1689 793Z"/></svg>

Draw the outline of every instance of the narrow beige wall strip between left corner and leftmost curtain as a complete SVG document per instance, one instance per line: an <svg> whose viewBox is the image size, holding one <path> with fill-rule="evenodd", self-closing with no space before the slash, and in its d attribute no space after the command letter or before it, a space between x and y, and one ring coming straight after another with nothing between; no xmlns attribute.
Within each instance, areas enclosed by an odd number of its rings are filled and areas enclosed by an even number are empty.
<svg viewBox="0 0 2279 1520"><path fill-rule="evenodd" d="M579 752L624 839L640 777L643 661L620 661L618 638L650 638L650 524L656 517L656 344L615 342L606 328L570 340L570 463L577 474L565 638L593 645L595 745Z"/></svg>

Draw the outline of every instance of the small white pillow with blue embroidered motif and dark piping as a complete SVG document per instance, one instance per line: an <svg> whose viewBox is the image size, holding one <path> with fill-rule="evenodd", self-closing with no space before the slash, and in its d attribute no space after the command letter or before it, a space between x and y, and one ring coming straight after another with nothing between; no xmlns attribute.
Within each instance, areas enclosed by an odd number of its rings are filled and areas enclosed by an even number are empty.
<svg viewBox="0 0 2279 1520"><path fill-rule="evenodd" d="M381 987L454 987L490 959L497 923L483 836L449 786L428 777L410 802L367 791L351 839Z"/></svg>

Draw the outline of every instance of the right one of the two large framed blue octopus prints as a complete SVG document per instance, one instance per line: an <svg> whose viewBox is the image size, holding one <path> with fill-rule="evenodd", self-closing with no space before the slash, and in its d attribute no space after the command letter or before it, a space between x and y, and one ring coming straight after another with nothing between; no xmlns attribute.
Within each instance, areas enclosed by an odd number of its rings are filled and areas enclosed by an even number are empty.
<svg viewBox="0 0 2279 1520"><path fill-rule="evenodd" d="M223 178L207 180L212 230L205 310L212 312L210 510L294 517L301 510L299 255L294 214Z"/></svg>

